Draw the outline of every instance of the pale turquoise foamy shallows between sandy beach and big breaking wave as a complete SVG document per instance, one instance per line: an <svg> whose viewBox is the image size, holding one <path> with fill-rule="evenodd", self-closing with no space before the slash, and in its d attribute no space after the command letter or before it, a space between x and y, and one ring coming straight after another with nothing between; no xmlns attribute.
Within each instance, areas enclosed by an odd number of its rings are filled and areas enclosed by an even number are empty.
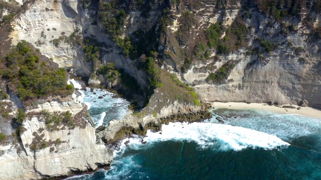
<svg viewBox="0 0 321 180"><path fill-rule="evenodd" d="M226 113L229 112L233 112L233 109L226 110ZM241 113L247 113L247 115L242 117ZM297 114L275 114L274 112L249 110L237 112L236 115L238 115L237 118L223 118L225 124L265 132L275 135L286 142L291 142L292 139L301 136L321 132L321 121L318 118ZM215 116L217 115L214 114L214 117L210 121L219 123L218 120L215 119Z"/></svg>

